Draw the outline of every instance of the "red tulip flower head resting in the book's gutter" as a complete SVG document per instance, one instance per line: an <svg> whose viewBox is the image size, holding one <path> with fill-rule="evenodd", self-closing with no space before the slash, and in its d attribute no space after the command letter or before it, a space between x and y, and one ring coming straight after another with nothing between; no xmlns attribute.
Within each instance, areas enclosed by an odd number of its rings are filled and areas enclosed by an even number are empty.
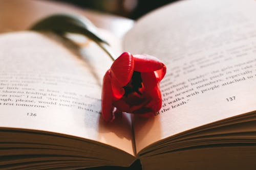
<svg viewBox="0 0 256 170"><path fill-rule="evenodd" d="M166 66L149 55L123 53L103 78L102 116L105 122L120 112L149 117L160 110L162 96L159 82Z"/></svg>

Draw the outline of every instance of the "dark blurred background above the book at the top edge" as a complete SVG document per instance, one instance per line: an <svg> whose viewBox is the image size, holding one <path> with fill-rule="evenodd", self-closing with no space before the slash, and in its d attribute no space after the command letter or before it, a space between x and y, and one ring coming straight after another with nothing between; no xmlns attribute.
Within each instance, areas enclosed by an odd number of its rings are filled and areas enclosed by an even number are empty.
<svg viewBox="0 0 256 170"><path fill-rule="evenodd" d="M73 4L80 8L92 9L104 13L124 16L131 19L138 19L163 5L175 2L175 0L53 0ZM177 0L176 0L177 1Z"/></svg>

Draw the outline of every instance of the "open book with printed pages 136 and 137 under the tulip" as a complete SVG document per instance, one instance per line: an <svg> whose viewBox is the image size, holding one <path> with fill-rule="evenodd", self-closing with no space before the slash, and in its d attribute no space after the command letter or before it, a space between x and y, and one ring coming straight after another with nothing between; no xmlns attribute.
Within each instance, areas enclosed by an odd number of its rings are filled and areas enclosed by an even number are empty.
<svg viewBox="0 0 256 170"><path fill-rule="evenodd" d="M181 1L137 21L114 51L167 66L163 106L105 124L111 60L53 34L0 35L0 168L252 169L256 166L256 2ZM80 37L78 37L79 39Z"/></svg>

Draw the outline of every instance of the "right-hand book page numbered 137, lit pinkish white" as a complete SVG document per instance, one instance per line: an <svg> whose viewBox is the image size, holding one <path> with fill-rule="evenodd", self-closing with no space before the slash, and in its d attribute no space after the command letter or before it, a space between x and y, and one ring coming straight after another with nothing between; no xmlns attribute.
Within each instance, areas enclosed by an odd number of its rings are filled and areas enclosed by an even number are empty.
<svg viewBox="0 0 256 170"><path fill-rule="evenodd" d="M142 17L124 49L161 59L163 105L135 117L137 152L166 137L256 110L256 2L181 1Z"/></svg>

